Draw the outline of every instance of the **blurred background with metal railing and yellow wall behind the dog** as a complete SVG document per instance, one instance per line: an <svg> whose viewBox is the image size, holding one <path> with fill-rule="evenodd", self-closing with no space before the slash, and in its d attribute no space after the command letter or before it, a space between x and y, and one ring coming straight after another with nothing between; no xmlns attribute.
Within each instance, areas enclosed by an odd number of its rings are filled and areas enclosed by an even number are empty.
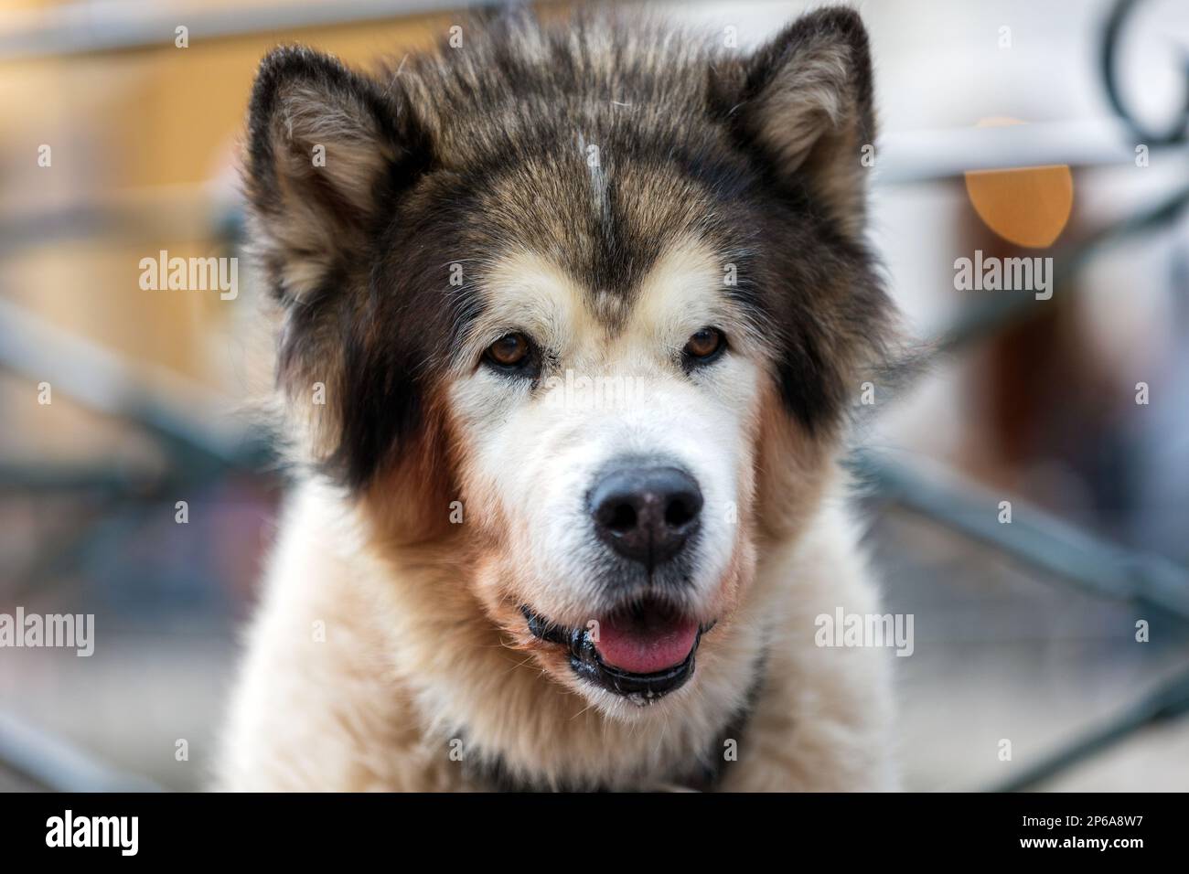
<svg viewBox="0 0 1189 874"><path fill-rule="evenodd" d="M853 455L886 608L914 616L905 785L1187 790L1189 6L856 5L873 239L938 350L875 388ZM647 6L743 51L810 4ZM96 617L90 658L0 648L0 788L205 785L285 483L238 413L266 366L246 265L221 300L144 290L140 260L238 252L269 48L367 67L460 20L0 4L0 614ZM957 288L976 252L1051 258L1052 297Z"/></svg>

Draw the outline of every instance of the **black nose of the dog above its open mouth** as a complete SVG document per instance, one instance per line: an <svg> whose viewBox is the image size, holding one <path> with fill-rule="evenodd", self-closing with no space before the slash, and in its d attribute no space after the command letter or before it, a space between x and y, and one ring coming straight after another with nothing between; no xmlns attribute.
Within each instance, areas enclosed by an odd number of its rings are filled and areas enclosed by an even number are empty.
<svg viewBox="0 0 1189 874"><path fill-rule="evenodd" d="M677 555L698 529L702 490L677 467L627 467L594 484L590 511L612 549L652 570Z"/></svg>

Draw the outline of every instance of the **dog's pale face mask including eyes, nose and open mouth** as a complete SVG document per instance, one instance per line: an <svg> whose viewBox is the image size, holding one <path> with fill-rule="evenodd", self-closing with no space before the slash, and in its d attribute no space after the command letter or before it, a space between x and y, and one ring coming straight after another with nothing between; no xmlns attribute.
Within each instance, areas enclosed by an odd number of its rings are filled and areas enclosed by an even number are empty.
<svg viewBox="0 0 1189 874"><path fill-rule="evenodd" d="M753 566L763 358L722 270L678 239L600 294L503 256L448 382L484 602L547 667L633 702L690 678Z"/></svg>

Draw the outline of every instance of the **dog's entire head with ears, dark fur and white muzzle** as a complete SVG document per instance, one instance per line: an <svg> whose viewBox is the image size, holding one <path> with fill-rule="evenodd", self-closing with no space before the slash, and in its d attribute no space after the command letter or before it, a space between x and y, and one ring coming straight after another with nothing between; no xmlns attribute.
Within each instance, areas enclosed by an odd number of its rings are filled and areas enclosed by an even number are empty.
<svg viewBox="0 0 1189 874"><path fill-rule="evenodd" d="M505 19L383 82L279 50L250 119L302 454L624 717L812 511L887 317L854 13L747 57L642 33Z"/></svg>

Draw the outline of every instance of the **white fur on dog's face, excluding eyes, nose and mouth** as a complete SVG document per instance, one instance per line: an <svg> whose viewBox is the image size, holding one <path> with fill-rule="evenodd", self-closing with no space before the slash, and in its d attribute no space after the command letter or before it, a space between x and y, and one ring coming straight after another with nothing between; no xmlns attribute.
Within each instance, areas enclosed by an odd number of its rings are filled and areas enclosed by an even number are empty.
<svg viewBox="0 0 1189 874"><path fill-rule="evenodd" d="M687 612L703 622L728 609L725 584L751 496L759 407L757 351L724 294L709 250L673 246L634 302L594 297L545 258L521 252L491 273L486 307L451 388L461 435L468 521L499 526L491 573L507 597L568 628L615 605L610 574L622 568L597 537L587 495L618 459L680 466L704 498L700 530L686 547ZM594 312L630 306L610 332ZM728 351L686 373L680 352L704 327ZM504 334L542 350L534 388L479 363ZM673 593L673 590L669 590Z"/></svg>

